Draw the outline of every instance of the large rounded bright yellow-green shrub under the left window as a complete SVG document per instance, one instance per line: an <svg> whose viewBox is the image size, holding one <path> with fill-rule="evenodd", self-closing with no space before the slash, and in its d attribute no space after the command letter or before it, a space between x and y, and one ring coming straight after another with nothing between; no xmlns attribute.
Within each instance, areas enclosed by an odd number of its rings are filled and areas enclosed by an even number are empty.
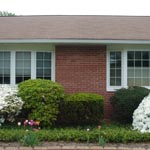
<svg viewBox="0 0 150 150"><path fill-rule="evenodd" d="M50 80L27 80L19 84L18 94L29 119L40 121L42 126L51 126L57 118L64 88Z"/></svg>

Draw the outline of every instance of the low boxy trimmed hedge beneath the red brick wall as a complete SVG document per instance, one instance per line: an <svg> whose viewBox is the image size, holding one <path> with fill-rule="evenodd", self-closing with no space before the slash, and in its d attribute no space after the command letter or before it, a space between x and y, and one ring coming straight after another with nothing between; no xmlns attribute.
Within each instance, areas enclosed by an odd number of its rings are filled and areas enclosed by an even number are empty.
<svg viewBox="0 0 150 150"><path fill-rule="evenodd" d="M99 123L103 116L103 101L103 97L98 94L67 95L60 103L58 123L63 125Z"/></svg>

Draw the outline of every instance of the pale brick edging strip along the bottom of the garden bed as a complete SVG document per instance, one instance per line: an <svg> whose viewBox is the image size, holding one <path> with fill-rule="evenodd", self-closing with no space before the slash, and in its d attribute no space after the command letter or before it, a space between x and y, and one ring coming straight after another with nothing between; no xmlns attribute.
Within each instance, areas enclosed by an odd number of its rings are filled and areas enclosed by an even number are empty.
<svg viewBox="0 0 150 150"><path fill-rule="evenodd" d="M0 150L147 150L146 148L100 146L47 146L47 147L0 147Z"/></svg>

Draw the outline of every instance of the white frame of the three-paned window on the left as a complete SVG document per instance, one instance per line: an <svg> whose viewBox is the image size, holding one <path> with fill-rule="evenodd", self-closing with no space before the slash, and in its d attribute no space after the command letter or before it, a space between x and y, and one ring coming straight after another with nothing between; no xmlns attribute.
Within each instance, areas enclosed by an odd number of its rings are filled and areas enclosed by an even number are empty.
<svg viewBox="0 0 150 150"><path fill-rule="evenodd" d="M4 50L1 50L4 51ZM55 81L55 50L7 50L10 52L10 85L16 86L16 52L31 52L31 79L36 79L36 52L51 53L51 80Z"/></svg>

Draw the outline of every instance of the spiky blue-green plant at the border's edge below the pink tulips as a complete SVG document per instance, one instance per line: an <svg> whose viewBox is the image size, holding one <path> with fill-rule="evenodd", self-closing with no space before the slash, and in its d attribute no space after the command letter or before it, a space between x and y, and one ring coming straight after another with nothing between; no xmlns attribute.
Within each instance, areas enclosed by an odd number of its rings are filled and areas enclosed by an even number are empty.
<svg viewBox="0 0 150 150"><path fill-rule="evenodd" d="M23 146L31 146L32 148L34 148L34 146L41 145L40 141L37 138L36 133L29 130L26 130L26 133L20 140L20 143Z"/></svg>

